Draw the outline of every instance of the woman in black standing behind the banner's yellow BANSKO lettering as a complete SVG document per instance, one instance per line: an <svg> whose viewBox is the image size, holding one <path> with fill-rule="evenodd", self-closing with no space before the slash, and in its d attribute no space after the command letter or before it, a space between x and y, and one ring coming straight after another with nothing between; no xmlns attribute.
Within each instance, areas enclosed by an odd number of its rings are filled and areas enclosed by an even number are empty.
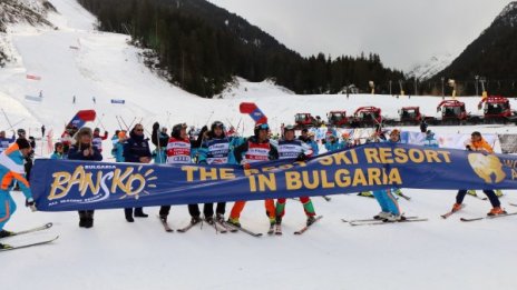
<svg viewBox="0 0 517 290"><path fill-rule="evenodd" d="M91 144L94 138L91 129L82 127L74 136L75 143L68 151L68 159L70 160L84 160L84 161L101 161L103 156L99 150ZM91 228L94 227L94 210L79 210L79 227Z"/></svg>

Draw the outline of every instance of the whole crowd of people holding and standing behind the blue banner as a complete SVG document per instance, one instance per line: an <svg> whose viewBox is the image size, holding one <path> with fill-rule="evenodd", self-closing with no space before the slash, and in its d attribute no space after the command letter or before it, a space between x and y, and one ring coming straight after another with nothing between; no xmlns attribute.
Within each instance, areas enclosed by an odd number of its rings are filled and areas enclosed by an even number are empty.
<svg viewBox="0 0 517 290"><path fill-rule="evenodd" d="M321 146L315 140L314 132L308 129L301 130L301 136L296 138L293 126L283 126L280 138L272 138L267 123L256 123L253 136L248 138L236 136L234 130L226 130L223 122L220 121L213 122L209 128L204 126L201 130L195 131L195 136L189 136L187 128L185 123L175 124L169 136L166 127L162 127L158 122L154 123L150 134L150 142L155 147L154 150L150 148L149 139L145 137L143 124L137 123L129 131L117 130L111 137L111 154L116 162L240 164L244 169L248 169L250 164L255 162L277 159L303 161L318 156L320 148L324 148L325 151L335 151L361 143L360 140L354 140L348 132L338 136L338 131L333 128L328 129L324 139L321 140ZM426 134L425 147L439 147L433 132L427 130L427 124L420 126L420 128ZM0 132L0 178L2 180L0 190L0 238L12 233L3 230L3 226L16 210L16 204L10 196L11 189L19 187L27 198L27 206L35 208L29 180L36 143L33 138L26 137L23 129L18 130L17 133L18 137L12 134L9 138L6 137L4 131ZM55 143L55 151L50 159L101 161L103 141L107 138L108 132L100 134L98 128L91 130L88 127L68 126L61 136L61 140ZM387 131L378 126L373 133L363 141L400 143L400 130ZM482 139L479 132L472 132L470 141L466 143L466 149L494 153L492 148ZM400 192L400 189L386 188L370 193L377 199L381 208L374 219L384 221L404 220L396 192ZM485 189L484 192L492 206L488 214L505 214L506 211L500 207L498 194L491 189ZM469 193L467 189L458 191L452 211L461 208L462 199L467 193ZM282 223L285 214L285 198L280 198L276 202L273 199L264 201L265 213L271 227ZM306 224L310 226L314 222L316 214L314 204L309 197L300 197L300 201L306 216ZM188 204L191 222L195 224L202 220L208 223L220 221L241 227L240 217L245 204L245 201L236 201L227 219L225 219L226 202L218 202L215 210L213 203L205 203L203 204L203 212L198 204ZM143 208L126 208L124 212L127 222L134 222L135 218L148 217ZM159 218L163 222L167 222L169 212L170 206L163 204L160 207ZM79 227L87 229L94 227L94 210L79 211L78 213ZM0 247L8 246L0 243Z"/></svg>

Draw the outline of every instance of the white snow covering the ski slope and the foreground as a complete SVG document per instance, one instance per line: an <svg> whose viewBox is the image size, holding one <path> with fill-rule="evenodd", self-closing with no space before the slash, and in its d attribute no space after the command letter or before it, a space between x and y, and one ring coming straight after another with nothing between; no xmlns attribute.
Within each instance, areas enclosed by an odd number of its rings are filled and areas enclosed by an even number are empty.
<svg viewBox="0 0 517 290"><path fill-rule="evenodd" d="M120 116L128 123L142 120L148 130L156 120L168 127L177 122L202 126L214 120L236 124L242 120L248 133L252 121L238 113L242 101L256 102L274 128L292 122L296 112L310 111L324 118L330 110L345 109L350 114L360 106L371 104L390 117L397 116L402 106L420 106L423 113L436 116L441 101L433 97L296 96L271 82L243 79L223 99L202 99L146 69L139 50L127 44L127 36L91 30L95 19L75 1L51 2L60 14L49 19L60 29L10 28L7 38L17 61L0 70L1 108L11 123L26 119L20 126L31 130L45 123L47 130L58 134L77 110L96 109L110 132L118 127L115 117ZM27 80L28 73L42 79ZM39 91L42 102L25 100L26 94L37 96ZM76 104L71 103L72 96L77 97ZM126 104L110 104L110 99L125 99ZM480 113L476 107L479 98L459 99L468 111ZM511 99L511 106L517 108L516 100ZM3 119L0 127L8 127ZM515 126L431 129L517 133ZM105 147L109 148L107 143ZM464 212L442 220L439 214L451 208L455 191L403 192L412 198L400 200L406 214L429 221L351 227L341 218L372 217L379 211L373 199L339 194L326 202L316 197L316 212L324 218L314 228L303 236L292 234L303 226L304 214L301 204L290 200L284 234L262 238L216 234L206 224L187 233L165 233L155 217L157 208L146 208L149 218L135 223L126 222L121 209L97 211L95 227L87 230L78 228L76 212L31 213L22 207L22 194L13 192L19 209L7 229L55 223L47 232L12 238L13 243L52 234L60 238L52 244L1 253L2 289L516 289L511 266L517 256L517 217L462 223L458 217L484 216L490 209L487 201L467 197ZM507 203L517 202L515 190L505 193L504 207L517 211ZM173 228L188 221L186 206L173 207ZM263 202L248 202L241 222L265 232L269 221Z"/></svg>

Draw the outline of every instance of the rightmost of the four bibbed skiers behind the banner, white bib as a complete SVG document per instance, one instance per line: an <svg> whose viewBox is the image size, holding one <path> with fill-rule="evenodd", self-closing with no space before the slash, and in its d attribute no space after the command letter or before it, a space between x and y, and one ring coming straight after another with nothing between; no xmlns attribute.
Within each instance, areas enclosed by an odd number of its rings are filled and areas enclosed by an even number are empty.
<svg viewBox="0 0 517 290"><path fill-rule="evenodd" d="M296 159L296 161L304 161L312 156L311 147L306 143L294 139L294 126L286 126L284 128L284 138L279 141L279 159ZM285 198L276 200L275 213L276 224L282 223L282 218L285 213ZM303 209L306 214L306 224L310 226L314 222L314 206L309 197L300 197Z"/></svg>

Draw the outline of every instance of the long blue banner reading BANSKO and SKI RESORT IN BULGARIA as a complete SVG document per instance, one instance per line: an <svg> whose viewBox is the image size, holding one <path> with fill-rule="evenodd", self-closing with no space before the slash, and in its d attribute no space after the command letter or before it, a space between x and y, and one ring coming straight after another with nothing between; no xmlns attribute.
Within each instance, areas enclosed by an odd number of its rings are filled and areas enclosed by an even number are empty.
<svg viewBox="0 0 517 290"><path fill-rule="evenodd" d="M386 188L517 189L517 157L370 143L305 162L237 166L36 160L41 211L113 209L352 193Z"/></svg>

